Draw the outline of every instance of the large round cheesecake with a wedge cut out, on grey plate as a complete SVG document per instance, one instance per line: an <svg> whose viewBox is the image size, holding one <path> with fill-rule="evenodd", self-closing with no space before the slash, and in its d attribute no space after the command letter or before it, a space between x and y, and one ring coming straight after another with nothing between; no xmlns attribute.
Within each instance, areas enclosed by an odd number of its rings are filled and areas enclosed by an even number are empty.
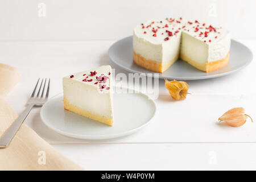
<svg viewBox="0 0 256 182"><path fill-rule="evenodd" d="M199 20L149 20L133 31L135 63L160 73L179 58L212 72L228 64L229 50L230 32Z"/></svg>

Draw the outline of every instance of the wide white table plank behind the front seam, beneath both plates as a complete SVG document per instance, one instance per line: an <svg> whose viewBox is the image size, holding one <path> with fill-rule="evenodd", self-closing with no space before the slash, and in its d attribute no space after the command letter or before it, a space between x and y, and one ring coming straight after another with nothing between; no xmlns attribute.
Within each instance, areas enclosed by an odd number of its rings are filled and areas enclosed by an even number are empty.
<svg viewBox="0 0 256 182"><path fill-rule="evenodd" d="M255 41L244 41L255 47ZM106 52L113 42L16 42L0 43L0 60L19 68L22 80L8 97L18 113L24 109L38 77L52 79L51 96L62 92L61 78L98 65L110 64L117 73L127 73L113 65ZM100 45L100 46L99 46ZM254 46L255 45L255 46ZM13 53L10 53L13 52ZM256 142L256 125L243 127L219 124L226 110L242 106L255 118L255 77L253 61L249 67L230 76L210 80L188 81L191 96L184 101L171 99L164 81L159 81L158 109L154 121L141 132L109 143L133 142ZM18 101L18 102L17 102ZM50 143L86 143L51 131L40 119L40 109L33 109L26 123ZM118 122L118 121L115 121Z"/></svg>

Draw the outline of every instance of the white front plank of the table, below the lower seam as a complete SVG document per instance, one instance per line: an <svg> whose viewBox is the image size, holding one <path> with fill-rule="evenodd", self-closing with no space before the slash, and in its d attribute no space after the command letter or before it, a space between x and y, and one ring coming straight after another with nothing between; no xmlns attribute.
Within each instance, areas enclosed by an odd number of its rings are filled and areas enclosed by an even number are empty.
<svg viewBox="0 0 256 182"><path fill-rule="evenodd" d="M85 170L255 170L255 144L54 145Z"/></svg>

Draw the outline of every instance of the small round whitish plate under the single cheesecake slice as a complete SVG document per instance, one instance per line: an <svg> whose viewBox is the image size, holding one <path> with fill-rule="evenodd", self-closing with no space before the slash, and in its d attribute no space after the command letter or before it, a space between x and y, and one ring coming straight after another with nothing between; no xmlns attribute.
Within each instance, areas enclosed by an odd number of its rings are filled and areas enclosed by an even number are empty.
<svg viewBox="0 0 256 182"><path fill-rule="evenodd" d="M109 140L132 134L146 126L156 112L155 102L142 93L114 93L113 126L64 110L63 94L43 105L43 122L57 133L86 140Z"/></svg>

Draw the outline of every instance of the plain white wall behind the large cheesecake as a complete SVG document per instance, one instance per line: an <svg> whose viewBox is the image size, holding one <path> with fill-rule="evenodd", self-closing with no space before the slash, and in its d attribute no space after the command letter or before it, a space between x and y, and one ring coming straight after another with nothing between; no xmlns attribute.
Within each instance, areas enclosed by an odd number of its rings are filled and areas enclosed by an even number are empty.
<svg viewBox="0 0 256 182"><path fill-rule="evenodd" d="M254 39L255 6L254 0L2 0L0 40L116 40L144 20L179 16L221 24L233 38Z"/></svg>

